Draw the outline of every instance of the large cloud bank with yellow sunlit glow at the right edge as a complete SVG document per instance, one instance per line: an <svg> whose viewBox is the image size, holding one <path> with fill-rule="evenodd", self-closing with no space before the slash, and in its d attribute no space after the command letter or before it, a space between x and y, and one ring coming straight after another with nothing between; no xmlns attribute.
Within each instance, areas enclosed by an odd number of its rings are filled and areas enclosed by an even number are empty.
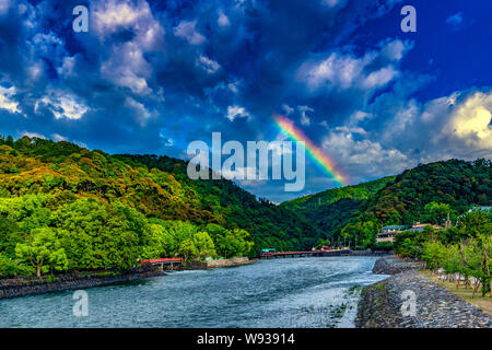
<svg viewBox="0 0 492 350"><path fill-rule="evenodd" d="M391 104L397 107L388 108ZM492 158L492 90L456 92L425 104L388 98L373 114L387 120L371 131L372 139L419 162Z"/></svg>

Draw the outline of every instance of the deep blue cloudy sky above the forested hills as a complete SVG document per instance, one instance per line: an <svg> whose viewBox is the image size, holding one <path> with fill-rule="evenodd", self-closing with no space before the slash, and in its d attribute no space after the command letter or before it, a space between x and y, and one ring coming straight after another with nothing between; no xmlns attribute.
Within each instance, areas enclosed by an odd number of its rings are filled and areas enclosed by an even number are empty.
<svg viewBox="0 0 492 350"><path fill-rule="evenodd" d="M0 135L185 159L212 131L273 141L279 113L351 184L490 159L491 15L485 0L0 0ZM279 202L335 182L307 161L302 192L241 185Z"/></svg>

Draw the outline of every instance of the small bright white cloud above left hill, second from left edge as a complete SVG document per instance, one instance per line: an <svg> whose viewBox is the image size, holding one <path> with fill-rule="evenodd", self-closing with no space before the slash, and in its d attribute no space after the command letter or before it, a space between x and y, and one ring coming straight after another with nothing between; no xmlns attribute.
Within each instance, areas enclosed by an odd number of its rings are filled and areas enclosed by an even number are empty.
<svg viewBox="0 0 492 350"><path fill-rule="evenodd" d="M75 96L51 92L48 96L36 101L34 110L38 112L39 106L46 106L57 119L67 118L77 120L89 112L89 107L79 102Z"/></svg>

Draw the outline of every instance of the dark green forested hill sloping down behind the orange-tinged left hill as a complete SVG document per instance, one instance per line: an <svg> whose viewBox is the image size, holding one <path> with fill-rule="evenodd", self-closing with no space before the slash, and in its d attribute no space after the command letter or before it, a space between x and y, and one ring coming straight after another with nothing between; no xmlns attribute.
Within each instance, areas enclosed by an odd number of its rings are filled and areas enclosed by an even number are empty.
<svg viewBox="0 0 492 350"><path fill-rule="evenodd" d="M256 252L263 247L277 249L307 249L324 236L316 225L296 212L266 199L257 199L227 179L191 180L187 163L166 155L115 155L138 167L160 170L169 174L199 199L199 209L218 224L247 230L254 237Z"/></svg>

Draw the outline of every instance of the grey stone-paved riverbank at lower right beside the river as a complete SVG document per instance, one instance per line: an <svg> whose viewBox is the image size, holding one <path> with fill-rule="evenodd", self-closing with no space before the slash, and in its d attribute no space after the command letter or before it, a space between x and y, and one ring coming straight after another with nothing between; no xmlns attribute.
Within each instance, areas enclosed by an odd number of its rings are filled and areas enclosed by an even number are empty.
<svg viewBox="0 0 492 350"><path fill-rule="evenodd" d="M418 270L421 262L395 257L376 260L373 272L390 275L361 292L355 325L360 328L491 328L492 317L450 293ZM401 313L403 291L415 298L414 314ZM409 292L410 291L410 292ZM406 304L409 302L406 301Z"/></svg>

